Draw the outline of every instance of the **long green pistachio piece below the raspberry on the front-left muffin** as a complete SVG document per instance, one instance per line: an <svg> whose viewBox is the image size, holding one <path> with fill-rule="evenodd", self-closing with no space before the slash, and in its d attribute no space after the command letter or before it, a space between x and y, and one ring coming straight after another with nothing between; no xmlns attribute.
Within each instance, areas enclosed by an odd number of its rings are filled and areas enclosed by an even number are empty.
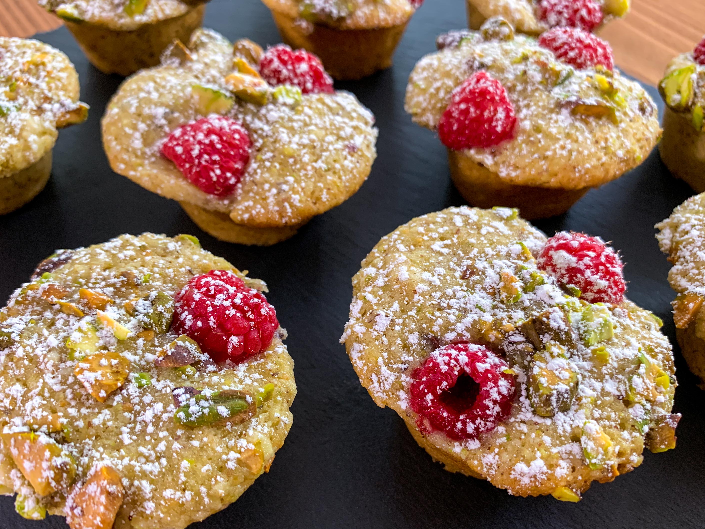
<svg viewBox="0 0 705 529"><path fill-rule="evenodd" d="M219 422L245 422L255 413L255 400L247 401L247 394L225 389L210 396L197 394L174 413L174 422L188 426L209 426Z"/></svg>

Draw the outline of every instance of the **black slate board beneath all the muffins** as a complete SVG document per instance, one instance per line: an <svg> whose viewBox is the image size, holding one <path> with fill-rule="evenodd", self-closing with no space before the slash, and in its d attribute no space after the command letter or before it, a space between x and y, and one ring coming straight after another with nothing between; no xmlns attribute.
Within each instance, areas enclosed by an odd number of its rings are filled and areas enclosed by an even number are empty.
<svg viewBox="0 0 705 529"><path fill-rule="evenodd" d="M348 202L271 248L216 241L197 229L176 202L114 174L101 147L99 119L121 79L92 68L66 29L39 35L75 63L90 118L61 131L47 189L18 212L0 217L0 299L27 281L37 262L56 248L101 243L120 233L194 233L207 250L267 281L267 297L289 331L298 396L286 444L269 474L193 529L703 526L705 393L697 389L680 353L678 448L647 452L634 472L610 484L596 483L579 504L566 504L551 497L511 497L433 463L396 413L374 405L338 343L348 318L350 278L379 238L412 217L464 203L450 183L445 149L403 109L412 67L434 51L436 35L465 27L464 4L427 0L409 24L393 68L337 84L355 92L376 115L379 157L367 183ZM269 11L257 0L214 0L204 25L230 39L279 42ZM661 104L656 90L651 93ZM675 344L669 265L653 226L689 195L692 191L668 174L654 152L639 169L589 192L568 214L536 224L549 234L572 229L612 241L627 263L628 296L666 322L663 330ZM56 517L25 521L14 512L11 498L0 497L0 528L66 525Z"/></svg>

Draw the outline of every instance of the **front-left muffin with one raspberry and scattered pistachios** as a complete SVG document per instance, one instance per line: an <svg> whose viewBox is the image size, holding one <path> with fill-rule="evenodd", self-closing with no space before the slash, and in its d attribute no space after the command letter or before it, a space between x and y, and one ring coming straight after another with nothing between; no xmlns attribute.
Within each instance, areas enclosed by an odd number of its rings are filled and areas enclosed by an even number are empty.
<svg viewBox="0 0 705 529"><path fill-rule="evenodd" d="M193 236L40 263L0 310L0 488L18 513L183 529L238 499L269 471L296 394L263 292Z"/></svg>

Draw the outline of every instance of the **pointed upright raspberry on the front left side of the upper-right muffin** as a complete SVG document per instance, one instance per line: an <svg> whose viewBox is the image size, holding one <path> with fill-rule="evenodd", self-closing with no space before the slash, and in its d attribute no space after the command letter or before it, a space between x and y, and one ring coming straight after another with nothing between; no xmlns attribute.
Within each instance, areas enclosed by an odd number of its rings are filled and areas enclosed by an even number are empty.
<svg viewBox="0 0 705 529"><path fill-rule="evenodd" d="M480 71L450 93L450 103L439 121L439 138L453 150L494 147L514 138L516 123L502 83Z"/></svg>

